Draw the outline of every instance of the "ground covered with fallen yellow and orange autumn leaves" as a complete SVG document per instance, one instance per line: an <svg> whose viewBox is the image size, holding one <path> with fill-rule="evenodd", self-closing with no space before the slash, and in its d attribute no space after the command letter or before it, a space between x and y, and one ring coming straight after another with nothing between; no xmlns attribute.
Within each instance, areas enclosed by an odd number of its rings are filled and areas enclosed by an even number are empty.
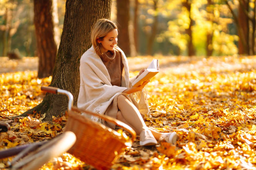
<svg viewBox="0 0 256 170"><path fill-rule="evenodd" d="M129 58L131 76L152 58ZM112 168L256 170L256 56L157 58L160 73L146 86L151 116L145 120L160 132L177 132L177 145L141 147L137 139ZM42 101L40 87L49 85L51 77L15 72L23 61L4 61L0 71L9 73L0 75L0 121L8 122L11 130L0 134L0 150L61 133L66 116L53 117L51 123L42 122L44 115L37 114L11 120ZM27 58L25 62L30 63ZM0 168L5 169L10 159L0 160ZM42 170L88 168L64 153Z"/></svg>

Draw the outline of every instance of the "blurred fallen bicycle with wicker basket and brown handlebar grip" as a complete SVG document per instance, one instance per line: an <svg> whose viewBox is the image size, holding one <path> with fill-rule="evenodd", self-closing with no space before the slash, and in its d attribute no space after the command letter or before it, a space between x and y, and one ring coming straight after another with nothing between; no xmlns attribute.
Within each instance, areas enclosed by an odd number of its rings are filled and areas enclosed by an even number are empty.
<svg viewBox="0 0 256 170"><path fill-rule="evenodd" d="M73 95L69 91L56 87L41 87L41 90L54 94L63 94L68 97L69 119L66 130L50 141L42 141L0 151L0 158L18 154L9 163L10 170L39 169L49 160L66 151L97 169L109 169L118 159L118 156L126 148L131 147L136 139L135 131L125 123L106 115L99 115L73 107ZM123 138L115 130L93 122L79 113L97 116L114 123L130 133L131 139ZM4 154L5 156L1 157ZM26 154L28 155L24 157ZM20 160L20 158L22 159Z"/></svg>

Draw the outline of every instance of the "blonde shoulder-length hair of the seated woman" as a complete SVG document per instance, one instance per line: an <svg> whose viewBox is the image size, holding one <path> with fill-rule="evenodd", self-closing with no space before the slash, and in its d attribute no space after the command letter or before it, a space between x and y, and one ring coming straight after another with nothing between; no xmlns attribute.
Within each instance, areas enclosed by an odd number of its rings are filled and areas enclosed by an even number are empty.
<svg viewBox="0 0 256 170"><path fill-rule="evenodd" d="M97 55L102 55L104 51L102 44L99 43L97 40L103 40L108 32L114 29L117 29L115 23L105 18L97 20L96 23L93 25L91 32L91 41Z"/></svg>

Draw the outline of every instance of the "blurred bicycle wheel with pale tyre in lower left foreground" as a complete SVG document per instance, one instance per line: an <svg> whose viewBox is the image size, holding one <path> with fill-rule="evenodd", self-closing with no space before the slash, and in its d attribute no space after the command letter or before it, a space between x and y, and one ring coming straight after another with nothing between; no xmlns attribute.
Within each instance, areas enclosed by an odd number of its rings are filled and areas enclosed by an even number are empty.
<svg viewBox="0 0 256 170"><path fill-rule="evenodd" d="M38 170L52 158L67 152L74 145L76 135L67 131L11 165L10 170Z"/></svg>

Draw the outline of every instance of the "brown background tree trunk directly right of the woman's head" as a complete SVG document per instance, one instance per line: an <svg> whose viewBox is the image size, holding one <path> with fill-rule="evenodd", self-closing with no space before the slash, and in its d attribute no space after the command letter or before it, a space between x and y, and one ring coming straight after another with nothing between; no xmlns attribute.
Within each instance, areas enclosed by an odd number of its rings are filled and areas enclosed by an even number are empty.
<svg viewBox="0 0 256 170"><path fill-rule="evenodd" d="M118 23L118 46L126 56L130 56L129 20L130 20L130 0L116 0L117 23Z"/></svg>

